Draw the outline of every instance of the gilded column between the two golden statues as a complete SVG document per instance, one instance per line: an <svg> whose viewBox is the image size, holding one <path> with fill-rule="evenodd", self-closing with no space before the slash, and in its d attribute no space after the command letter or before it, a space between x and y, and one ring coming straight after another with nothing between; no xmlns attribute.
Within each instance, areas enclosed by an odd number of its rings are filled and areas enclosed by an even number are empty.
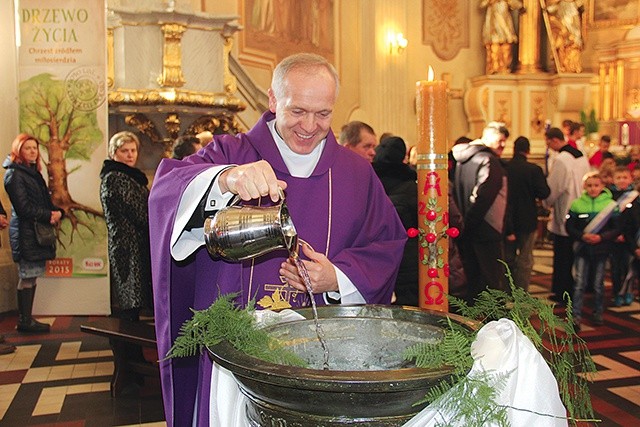
<svg viewBox="0 0 640 427"><path fill-rule="evenodd" d="M540 67L540 0L522 0L525 13L520 14L518 28L518 74L542 71Z"/></svg>

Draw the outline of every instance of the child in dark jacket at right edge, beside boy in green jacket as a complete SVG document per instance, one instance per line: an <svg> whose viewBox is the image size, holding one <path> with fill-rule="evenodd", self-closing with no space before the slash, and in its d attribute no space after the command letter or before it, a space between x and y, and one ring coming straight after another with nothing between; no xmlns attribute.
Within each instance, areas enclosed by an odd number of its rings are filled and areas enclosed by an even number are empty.
<svg viewBox="0 0 640 427"><path fill-rule="evenodd" d="M625 203L627 195L633 191L633 178L631 171L626 166L617 166L613 172L613 185L608 187L611 190L613 200ZM623 211L625 206L618 205L618 209ZM620 234L611 245L609 261L611 263L611 281L613 282L613 305L622 306L624 295L620 293L622 282L627 275L631 256L624 241L624 235Z"/></svg>

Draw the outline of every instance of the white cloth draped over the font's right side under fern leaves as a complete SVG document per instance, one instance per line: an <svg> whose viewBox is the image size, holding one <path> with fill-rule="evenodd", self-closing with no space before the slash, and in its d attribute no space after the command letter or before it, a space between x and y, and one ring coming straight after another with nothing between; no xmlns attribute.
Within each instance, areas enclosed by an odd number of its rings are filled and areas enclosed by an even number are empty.
<svg viewBox="0 0 640 427"><path fill-rule="evenodd" d="M469 376L487 371L508 375L496 403L509 407L507 416L510 425L567 426L566 410L551 369L513 321L500 319L485 325L471 345L471 354L474 363ZM456 420L455 413L443 414L432 404L404 427L432 427L437 423L459 427L464 425Z"/></svg>

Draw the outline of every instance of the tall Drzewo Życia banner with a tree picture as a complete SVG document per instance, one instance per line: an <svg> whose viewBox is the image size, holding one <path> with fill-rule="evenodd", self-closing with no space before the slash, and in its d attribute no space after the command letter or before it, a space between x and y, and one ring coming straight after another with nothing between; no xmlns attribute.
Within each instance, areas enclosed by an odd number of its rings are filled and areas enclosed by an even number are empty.
<svg viewBox="0 0 640 427"><path fill-rule="evenodd" d="M90 312L105 306L108 311L107 232L99 197L108 135L105 0L14 5L20 131L42 142L43 174L53 203L64 210L57 258L47 262L46 277L65 280L47 283L65 286L60 299L70 297L71 311L85 310L77 304L77 295L89 291L81 289L85 285L98 292L87 296L99 306Z"/></svg>

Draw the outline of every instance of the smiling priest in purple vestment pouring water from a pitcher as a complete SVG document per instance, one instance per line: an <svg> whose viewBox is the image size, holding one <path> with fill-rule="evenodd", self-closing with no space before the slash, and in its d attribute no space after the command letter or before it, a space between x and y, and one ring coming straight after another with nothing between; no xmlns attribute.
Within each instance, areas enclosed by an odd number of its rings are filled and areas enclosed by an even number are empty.
<svg viewBox="0 0 640 427"><path fill-rule="evenodd" d="M286 250L255 259L212 259L204 218L232 196L273 205L284 189L315 301L390 304L406 240L396 210L371 165L341 147L331 131L338 75L324 58L297 54L274 70L269 110L245 134L217 135L184 160L164 159L149 200L155 324L160 358L180 326L221 294L262 309L311 304ZM215 423L212 363L200 357L160 362L169 426Z"/></svg>

